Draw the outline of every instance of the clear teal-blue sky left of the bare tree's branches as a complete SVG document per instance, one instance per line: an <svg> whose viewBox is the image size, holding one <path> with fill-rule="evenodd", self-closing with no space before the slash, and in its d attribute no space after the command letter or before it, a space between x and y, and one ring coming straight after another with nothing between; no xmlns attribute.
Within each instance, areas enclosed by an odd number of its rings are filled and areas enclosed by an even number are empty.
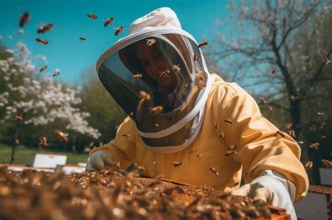
<svg viewBox="0 0 332 220"><path fill-rule="evenodd" d="M130 23L146 15L155 8L168 6L178 15L182 28L191 33L198 42L212 40L210 33L217 19L226 16L228 1L16 1L0 0L0 36L1 43L13 49L18 41L27 44L32 55L41 54L48 59L48 71L60 70L59 80L74 84L79 82L80 73L95 62L102 52L126 36ZM23 27L25 34L18 34L20 15L28 11L31 20ZM87 15L94 13L97 20ZM104 20L114 17L109 27ZM46 34L37 34L42 24L52 23L54 28ZM114 36L113 27L123 26L122 36ZM9 39L8 36L13 36ZM79 40L79 37L86 41ZM45 38L48 45L36 43L36 38ZM37 65L37 67L39 68Z"/></svg>

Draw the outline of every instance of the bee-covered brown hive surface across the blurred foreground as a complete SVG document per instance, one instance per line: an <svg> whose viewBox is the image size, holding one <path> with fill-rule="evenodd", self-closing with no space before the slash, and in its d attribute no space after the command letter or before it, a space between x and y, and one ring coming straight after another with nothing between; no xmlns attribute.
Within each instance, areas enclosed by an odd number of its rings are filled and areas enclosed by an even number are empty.
<svg viewBox="0 0 332 220"><path fill-rule="evenodd" d="M0 219L289 219L261 200L133 174L2 167Z"/></svg>

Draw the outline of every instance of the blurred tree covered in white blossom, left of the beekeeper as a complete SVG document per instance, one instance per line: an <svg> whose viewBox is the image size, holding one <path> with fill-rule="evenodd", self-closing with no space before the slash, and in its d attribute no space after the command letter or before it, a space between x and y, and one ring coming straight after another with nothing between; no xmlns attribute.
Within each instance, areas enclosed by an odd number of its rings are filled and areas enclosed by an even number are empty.
<svg viewBox="0 0 332 220"><path fill-rule="evenodd" d="M80 88L64 88L53 79L52 73L39 73L32 65L34 58L30 58L31 52L24 43L18 43L15 51L7 53L13 56L0 60L0 81L6 82L5 87L0 88L0 108L6 110L0 123L11 120L13 115L25 115L23 122L34 125L61 119L67 124L66 129L99 138L99 131L86 121L90 113L74 107L81 103ZM37 58L46 64L45 57Z"/></svg>

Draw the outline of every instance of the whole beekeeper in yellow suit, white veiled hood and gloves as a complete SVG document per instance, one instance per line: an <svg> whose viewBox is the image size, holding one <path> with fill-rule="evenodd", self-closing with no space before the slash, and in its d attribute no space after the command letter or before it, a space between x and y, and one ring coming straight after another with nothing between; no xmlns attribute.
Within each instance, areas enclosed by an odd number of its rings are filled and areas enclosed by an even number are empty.
<svg viewBox="0 0 332 220"><path fill-rule="evenodd" d="M308 188L296 141L276 135L244 89L208 72L170 8L140 17L129 32L102 54L97 73L130 117L90 152L87 170L138 163L146 176L261 198L296 219L292 201Z"/></svg>

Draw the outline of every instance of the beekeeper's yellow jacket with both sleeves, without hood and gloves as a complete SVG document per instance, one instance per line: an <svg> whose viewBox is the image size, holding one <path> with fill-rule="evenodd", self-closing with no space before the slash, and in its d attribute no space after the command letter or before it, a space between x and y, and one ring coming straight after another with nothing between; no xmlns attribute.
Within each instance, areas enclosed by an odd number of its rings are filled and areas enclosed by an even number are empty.
<svg viewBox="0 0 332 220"><path fill-rule="evenodd" d="M242 172L244 182L249 183L263 170L275 170L296 186L295 202L303 198L309 182L299 161L300 147L296 141L286 133L284 138L275 135L279 131L277 127L261 115L256 101L244 89L224 82L218 75L212 74L212 77L214 82L202 129L186 149L175 153L147 149L134 121L127 117L119 126L116 138L90 154L104 150L123 169L137 163L145 167L143 175L163 175L166 179L198 186L207 184L221 191L238 189ZM239 145L237 154L225 156L231 145ZM184 164L175 168L173 161Z"/></svg>

